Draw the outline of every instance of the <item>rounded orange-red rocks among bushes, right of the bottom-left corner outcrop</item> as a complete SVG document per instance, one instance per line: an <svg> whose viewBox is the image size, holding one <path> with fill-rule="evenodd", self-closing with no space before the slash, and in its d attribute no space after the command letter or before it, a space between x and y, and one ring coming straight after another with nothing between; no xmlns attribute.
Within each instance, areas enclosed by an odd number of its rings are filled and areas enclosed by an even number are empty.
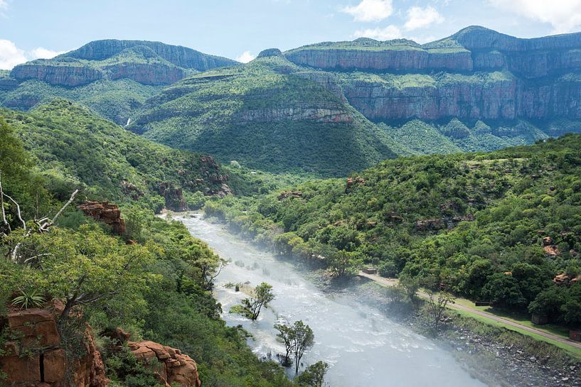
<svg viewBox="0 0 581 387"><path fill-rule="evenodd" d="M161 364L158 377L161 384L170 387L178 383L181 387L200 387L198 366L190 356L182 354L179 349L166 347L156 342L127 342L129 349L137 359L149 362L157 359Z"/></svg>

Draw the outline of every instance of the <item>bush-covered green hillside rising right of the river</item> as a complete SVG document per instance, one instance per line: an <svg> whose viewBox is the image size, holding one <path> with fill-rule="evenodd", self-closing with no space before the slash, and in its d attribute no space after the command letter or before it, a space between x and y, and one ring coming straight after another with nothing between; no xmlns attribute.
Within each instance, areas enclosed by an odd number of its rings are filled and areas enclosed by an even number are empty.
<svg viewBox="0 0 581 387"><path fill-rule="evenodd" d="M567 135L387 160L347 185L315 180L292 187L296 195L228 197L206 213L281 254L331 268L336 254L356 254L380 273L575 327L581 287L553 277L581 274L580 146L581 136Z"/></svg>

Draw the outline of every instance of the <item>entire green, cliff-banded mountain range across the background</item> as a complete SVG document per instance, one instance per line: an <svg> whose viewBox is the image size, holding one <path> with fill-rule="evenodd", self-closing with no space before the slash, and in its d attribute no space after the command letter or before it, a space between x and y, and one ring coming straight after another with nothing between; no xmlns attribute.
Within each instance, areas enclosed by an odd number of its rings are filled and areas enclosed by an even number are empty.
<svg viewBox="0 0 581 387"><path fill-rule="evenodd" d="M581 131L581 33L481 27L420 45L359 38L250 63L98 40L0 73L0 103L86 104L147 138L273 172L341 175L385 158L489 151Z"/></svg>

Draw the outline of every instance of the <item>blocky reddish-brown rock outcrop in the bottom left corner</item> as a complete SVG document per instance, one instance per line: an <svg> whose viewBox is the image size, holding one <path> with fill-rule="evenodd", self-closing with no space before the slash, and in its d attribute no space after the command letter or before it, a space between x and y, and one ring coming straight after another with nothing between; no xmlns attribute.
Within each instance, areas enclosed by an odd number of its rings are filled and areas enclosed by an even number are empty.
<svg viewBox="0 0 581 387"><path fill-rule="evenodd" d="M107 387L100 352L87 328L80 358L69 360L57 327L59 307L46 309L11 310L1 329L9 337L0 356L0 370L11 387ZM54 306L54 305L53 305Z"/></svg>

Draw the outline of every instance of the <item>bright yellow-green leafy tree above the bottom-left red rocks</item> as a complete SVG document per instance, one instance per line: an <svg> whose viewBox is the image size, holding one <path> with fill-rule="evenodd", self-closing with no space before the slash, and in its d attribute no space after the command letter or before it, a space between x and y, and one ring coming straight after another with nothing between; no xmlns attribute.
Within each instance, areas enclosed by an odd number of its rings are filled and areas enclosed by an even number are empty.
<svg viewBox="0 0 581 387"><path fill-rule="evenodd" d="M123 244L97 227L54 228L24 239L22 231L9 236L21 243L19 255L28 264L21 283L64 299L63 319L78 305L127 309L157 278L147 271L153 258L146 248Z"/></svg>

